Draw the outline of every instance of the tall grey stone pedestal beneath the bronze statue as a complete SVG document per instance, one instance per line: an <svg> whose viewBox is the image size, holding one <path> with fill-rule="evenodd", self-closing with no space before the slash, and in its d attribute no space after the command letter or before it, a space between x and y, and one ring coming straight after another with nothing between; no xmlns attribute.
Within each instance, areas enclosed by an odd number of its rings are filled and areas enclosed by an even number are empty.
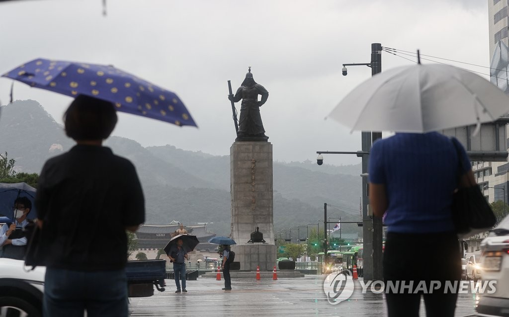
<svg viewBox="0 0 509 317"><path fill-rule="evenodd" d="M230 148L232 194L232 246L240 270L272 270L276 262L274 244L272 144L234 142ZM260 227L265 243L247 243Z"/></svg>

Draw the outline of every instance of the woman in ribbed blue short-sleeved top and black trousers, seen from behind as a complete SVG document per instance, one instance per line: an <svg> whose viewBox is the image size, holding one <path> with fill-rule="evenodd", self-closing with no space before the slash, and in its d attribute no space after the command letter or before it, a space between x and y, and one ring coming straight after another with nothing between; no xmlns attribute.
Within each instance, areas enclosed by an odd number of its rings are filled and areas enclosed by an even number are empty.
<svg viewBox="0 0 509 317"><path fill-rule="evenodd" d="M460 160L468 167L461 170L458 184ZM451 205L458 186L475 184L464 148L436 132L397 133L374 143L369 178L373 213L386 213L388 315L418 316L423 295L427 316L454 316L457 293L444 292L446 281L454 285L461 278Z"/></svg>

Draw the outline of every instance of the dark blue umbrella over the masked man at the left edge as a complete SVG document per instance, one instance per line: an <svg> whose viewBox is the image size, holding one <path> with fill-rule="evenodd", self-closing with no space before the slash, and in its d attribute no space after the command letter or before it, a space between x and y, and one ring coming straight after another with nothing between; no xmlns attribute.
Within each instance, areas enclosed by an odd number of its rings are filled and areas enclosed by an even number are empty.
<svg viewBox="0 0 509 317"><path fill-rule="evenodd" d="M0 215L14 218L12 209L14 206L14 200L18 197L24 196L32 201L32 209L26 218L37 218L37 212L34 206L35 193L36 189L26 183L0 183Z"/></svg>

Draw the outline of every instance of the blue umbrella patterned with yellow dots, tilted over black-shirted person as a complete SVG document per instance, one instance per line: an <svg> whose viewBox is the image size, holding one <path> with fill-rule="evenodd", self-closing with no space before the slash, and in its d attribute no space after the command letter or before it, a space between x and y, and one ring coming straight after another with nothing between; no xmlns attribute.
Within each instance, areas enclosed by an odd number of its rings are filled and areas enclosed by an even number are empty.
<svg viewBox="0 0 509 317"><path fill-rule="evenodd" d="M71 97L106 100L122 112L196 127L175 93L113 66L36 59L2 76Z"/></svg>

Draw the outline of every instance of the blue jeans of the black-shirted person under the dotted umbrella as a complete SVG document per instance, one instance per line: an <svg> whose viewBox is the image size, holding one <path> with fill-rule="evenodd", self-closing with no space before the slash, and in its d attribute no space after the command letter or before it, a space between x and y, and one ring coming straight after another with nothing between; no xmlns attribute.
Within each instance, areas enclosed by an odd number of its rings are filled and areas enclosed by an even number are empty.
<svg viewBox="0 0 509 317"><path fill-rule="evenodd" d="M125 270L84 272L46 269L44 280L45 317L126 317L127 279Z"/></svg>

